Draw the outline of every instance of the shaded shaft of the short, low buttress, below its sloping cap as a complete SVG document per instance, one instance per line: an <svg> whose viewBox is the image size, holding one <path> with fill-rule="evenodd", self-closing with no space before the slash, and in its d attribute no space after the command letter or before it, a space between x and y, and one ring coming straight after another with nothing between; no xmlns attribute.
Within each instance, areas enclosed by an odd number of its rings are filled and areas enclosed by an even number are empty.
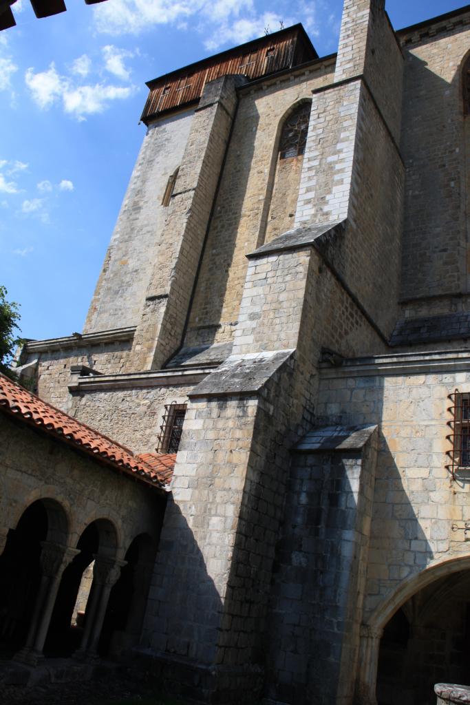
<svg viewBox="0 0 470 705"><path fill-rule="evenodd" d="M292 458L266 634L271 700L352 699L375 460L370 447Z"/></svg>

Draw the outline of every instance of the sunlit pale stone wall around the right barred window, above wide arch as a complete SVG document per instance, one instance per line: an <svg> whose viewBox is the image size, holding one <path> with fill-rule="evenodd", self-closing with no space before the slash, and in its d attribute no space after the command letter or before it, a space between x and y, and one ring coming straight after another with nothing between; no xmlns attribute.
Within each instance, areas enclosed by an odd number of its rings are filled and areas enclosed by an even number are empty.
<svg viewBox="0 0 470 705"><path fill-rule="evenodd" d="M453 372L451 364L427 373L410 365L390 376L361 373L359 362L355 367L351 376L323 370L317 413L346 424L380 424L366 621L404 580L435 561L468 554L452 523L466 520L470 487L458 475L452 482L446 452L452 448L448 396L456 387L470 391L470 374Z"/></svg>

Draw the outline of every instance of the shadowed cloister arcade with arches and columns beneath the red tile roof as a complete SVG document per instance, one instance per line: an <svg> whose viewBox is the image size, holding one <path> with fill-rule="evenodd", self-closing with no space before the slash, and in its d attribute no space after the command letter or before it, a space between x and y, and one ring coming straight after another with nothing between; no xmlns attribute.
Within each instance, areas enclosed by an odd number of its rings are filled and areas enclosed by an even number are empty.
<svg viewBox="0 0 470 705"><path fill-rule="evenodd" d="M137 646L166 503L161 484L5 415L2 443L14 452L1 460L0 658L36 666Z"/></svg>

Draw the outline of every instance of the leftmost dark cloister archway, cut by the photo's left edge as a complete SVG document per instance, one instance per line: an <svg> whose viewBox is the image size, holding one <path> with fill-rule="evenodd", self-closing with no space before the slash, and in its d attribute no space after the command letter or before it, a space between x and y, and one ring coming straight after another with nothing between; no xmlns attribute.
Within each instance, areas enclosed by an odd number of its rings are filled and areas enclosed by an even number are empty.
<svg viewBox="0 0 470 705"><path fill-rule="evenodd" d="M0 649L11 658L26 641L42 577L42 541L65 546L68 522L52 499L30 504L0 556Z"/></svg>

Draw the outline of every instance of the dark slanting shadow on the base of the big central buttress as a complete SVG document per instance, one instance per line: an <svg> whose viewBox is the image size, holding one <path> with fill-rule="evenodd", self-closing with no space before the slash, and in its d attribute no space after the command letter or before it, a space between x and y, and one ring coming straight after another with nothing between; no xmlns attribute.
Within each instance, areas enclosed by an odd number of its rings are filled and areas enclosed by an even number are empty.
<svg viewBox="0 0 470 705"><path fill-rule="evenodd" d="M206 482L209 495L211 478ZM203 508L196 511L193 507L191 515L200 517L200 525L190 527L173 496L168 496L140 659L147 651L149 670L163 689L180 697L210 701L223 603L206 562L218 560L221 548L217 539L213 546L204 541L207 552L202 554L198 537L207 532Z"/></svg>

